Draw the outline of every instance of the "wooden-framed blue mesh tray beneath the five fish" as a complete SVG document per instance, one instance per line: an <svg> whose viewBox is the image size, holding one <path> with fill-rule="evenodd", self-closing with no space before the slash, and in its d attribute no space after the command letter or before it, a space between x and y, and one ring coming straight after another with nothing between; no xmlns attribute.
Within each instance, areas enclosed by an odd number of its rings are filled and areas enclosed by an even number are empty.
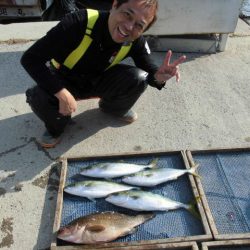
<svg viewBox="0 0 250 250"><path fill-rule="evenodd" d="M133 210L112 205L105 201L105 199L96 199L96 201L93 202L82 197L71 196L63 193L64 187L68 184L82 180L90 180L89 177L79 177L79 172L83 167L102 162L119 162L121 160L126 163L148 164L155 158L158 159L158 167L175 169L189 168L188 159L183 151L62 159L61 177L53 228L55 237L51 243L51 249L126 249L127 247L129 249L162 249L163 246L166 246L166 249L168 249L168 243L211 240L212 233L209 228L204 208L201 201L196 198L199 196L199 193L194 178L192 175L188 174L179 177L175 181L163 183L152 188L142 189L161 194L172 200L185 204L195 202L200 218L195 217L185 209L177 209L168 212L154 212L156 216L150 221L140 225L135 233L118 238L110 243L98 245L76 245L56 239L56 232L59 228L67 225L78 217L94 212L116 211L128 215L138 214L138 212ZM117 178L114 179L114 181L120 182L120 179ZM144 248L147 245L154 247L150 248L149 246L149 248ZM140 248L142 246L143 248ZM172 245L170 244L170 246ZM193 249L190 247L180 248L180 246L178 246L176 249Z"/></svg>

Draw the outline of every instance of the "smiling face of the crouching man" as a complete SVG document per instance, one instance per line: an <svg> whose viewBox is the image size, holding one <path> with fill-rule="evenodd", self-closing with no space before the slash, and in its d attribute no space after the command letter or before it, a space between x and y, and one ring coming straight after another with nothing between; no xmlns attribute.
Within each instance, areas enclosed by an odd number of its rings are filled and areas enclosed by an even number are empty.
<svg viewBox="0 0 250 250"><path fill-rule="evenodd" d="M154 6L146 6L144 0L129 0L117 8L114 0L108 20L109 32L117 43L137 39L155 15Z"/></svg>

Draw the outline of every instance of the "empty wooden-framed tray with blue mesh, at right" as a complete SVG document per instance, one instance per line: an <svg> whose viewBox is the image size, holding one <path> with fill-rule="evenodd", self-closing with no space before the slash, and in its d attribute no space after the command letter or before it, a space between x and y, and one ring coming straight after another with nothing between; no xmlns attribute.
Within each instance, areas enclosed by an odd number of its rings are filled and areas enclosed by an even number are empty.
<svg viewBox="0 0 250 250"><path fill-rule="evenodd" d="M250 148L186 154L199 164L195 181L214 239L250 238Z"/></svg>

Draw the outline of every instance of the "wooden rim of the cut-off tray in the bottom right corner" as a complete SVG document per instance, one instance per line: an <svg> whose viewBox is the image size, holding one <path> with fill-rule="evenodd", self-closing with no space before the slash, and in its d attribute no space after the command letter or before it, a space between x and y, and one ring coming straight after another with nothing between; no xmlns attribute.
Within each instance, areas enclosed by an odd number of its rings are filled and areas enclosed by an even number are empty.
<svg viewBox="0 0 250 250"><path fill-rule="evenodd" d="M227 247L246 247L249 246L250 249L250 239L244 240L227 240L227 241L210 241L202 242L202 250L212 250L213 247L227 246ZM232 249L233 250L233 249Z"/></svg>

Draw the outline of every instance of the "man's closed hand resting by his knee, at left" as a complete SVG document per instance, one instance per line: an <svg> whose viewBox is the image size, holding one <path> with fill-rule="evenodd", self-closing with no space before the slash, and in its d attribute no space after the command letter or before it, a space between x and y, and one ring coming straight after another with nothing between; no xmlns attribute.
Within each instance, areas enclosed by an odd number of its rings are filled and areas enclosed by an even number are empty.
<svg viewBox="0 0 250 250"><path fill-rule="evenodd" d="M55 96L59 100L59 113L66 116L76 111L76 100L67 89L63 88Z"/></svg>

